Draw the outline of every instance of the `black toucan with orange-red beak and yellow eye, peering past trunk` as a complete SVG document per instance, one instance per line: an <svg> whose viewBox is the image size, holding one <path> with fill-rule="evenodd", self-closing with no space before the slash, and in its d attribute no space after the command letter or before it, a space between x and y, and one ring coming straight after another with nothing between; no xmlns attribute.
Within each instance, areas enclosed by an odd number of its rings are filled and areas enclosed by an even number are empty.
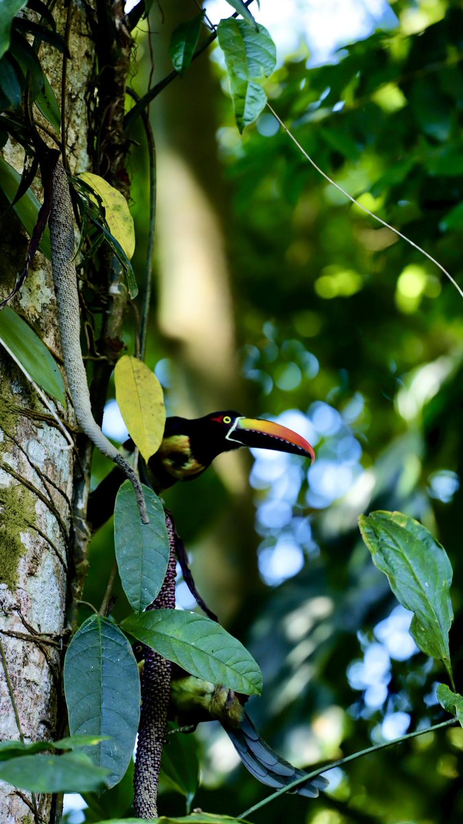
<svg viewBox="0 0 463 824"><path fill-rule="evenodd" d="M240 447L291 452L315 460L311 444L291 429L274 421L246 418L239 412L226 410L192 420L177 416L167 418L161 446L147 461L146 467L142 466L140 475L159 494L177 480L197 478L221 452ZM135 444L129 438L124 449L133 452L134 448ZM124 475L116 466L91 493L87 521L94 530L110 517L123 480Z"/></svg>

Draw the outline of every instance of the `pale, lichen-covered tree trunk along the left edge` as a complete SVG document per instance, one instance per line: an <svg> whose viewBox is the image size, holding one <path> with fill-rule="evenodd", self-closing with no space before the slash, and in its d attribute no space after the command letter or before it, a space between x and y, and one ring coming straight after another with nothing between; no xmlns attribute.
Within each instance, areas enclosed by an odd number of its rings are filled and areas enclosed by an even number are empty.
<svg viewBox="0 0 463 824"><path fill-rule="evenodd" d="M82 7L58 2L54 8L62 35L70 19L63 140L70 171L85 171L87 156L87 87L94 63ZM62 55L40 47L40 60L58 101L61 99ZM35 117L40 115L35 110ZM48 124L49 125L49 124ZM48 140L48 138L47 138ZM53 145L52 142L49 142ZM24 152L8 141L5 160L22 172ZM33 185L42 199L38 180ZM10 208L2 202L2 295L16 280L26 259L28 238ZM45 344L58 354L51 265L35 255L21 294L12 303ZM73 424L72 406L57 409ZM0 346L0 715L2 739L53 739L63 730L61 689L63 641L68 637L74 561L70 551L74 450L67 443L35 390ZM0 788L0 821L52 822L58 800ZM40 819L39 819L40 817Z"/></svg>

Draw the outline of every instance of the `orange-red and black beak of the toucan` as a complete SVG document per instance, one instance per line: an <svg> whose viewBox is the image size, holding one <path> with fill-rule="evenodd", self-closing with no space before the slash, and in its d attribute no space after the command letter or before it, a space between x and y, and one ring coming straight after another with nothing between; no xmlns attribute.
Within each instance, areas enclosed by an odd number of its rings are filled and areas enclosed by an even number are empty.
<svg viewBox="0 0 463 824"><path fill-rule="evenodd" d="M292 432L286 426L275 424L272 420L236 418L226 437L243 447L292 452L293 455L310 457L312 463L315 461L313 447L302 435Z"/></svg>

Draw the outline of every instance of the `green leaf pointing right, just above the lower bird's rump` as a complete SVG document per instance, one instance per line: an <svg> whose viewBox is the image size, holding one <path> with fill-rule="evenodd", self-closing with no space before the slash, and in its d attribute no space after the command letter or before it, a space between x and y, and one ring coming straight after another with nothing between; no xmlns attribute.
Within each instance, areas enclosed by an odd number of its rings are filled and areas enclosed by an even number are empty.
<svg viewBox="0 0 463 824"><path fill-rule="evenodd" d="M262 673L247 649L222 626L195 612L152 610L129 616L121 627L191 675L260 695Z"/></svg>

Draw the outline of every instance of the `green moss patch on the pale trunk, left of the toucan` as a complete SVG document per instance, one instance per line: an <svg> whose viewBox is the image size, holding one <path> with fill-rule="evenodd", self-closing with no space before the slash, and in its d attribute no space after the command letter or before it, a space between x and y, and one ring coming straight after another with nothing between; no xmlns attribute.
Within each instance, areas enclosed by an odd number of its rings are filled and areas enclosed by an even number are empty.
<svg viewBox="0 0 463 824"><path fill-rule="evenodd" d="M0 488L0 581L14 590L18 564L26 552L21 532L35 523L35 496L16 484Z"/></svg>

